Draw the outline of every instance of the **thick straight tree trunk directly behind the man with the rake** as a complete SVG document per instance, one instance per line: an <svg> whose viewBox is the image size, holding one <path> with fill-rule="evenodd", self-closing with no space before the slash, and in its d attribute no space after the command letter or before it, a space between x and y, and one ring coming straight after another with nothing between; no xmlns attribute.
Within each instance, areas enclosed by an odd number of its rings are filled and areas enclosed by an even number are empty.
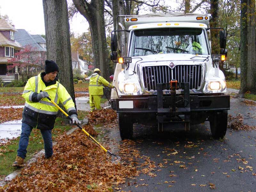
<svg viewBox="0 0 256 192"><path fill-rule="evenodd" d="M74 103L71 47L66 0L43 0L44 25L47 46L47 59L56 61L59 66L60 83L67 89Z"/></svg>

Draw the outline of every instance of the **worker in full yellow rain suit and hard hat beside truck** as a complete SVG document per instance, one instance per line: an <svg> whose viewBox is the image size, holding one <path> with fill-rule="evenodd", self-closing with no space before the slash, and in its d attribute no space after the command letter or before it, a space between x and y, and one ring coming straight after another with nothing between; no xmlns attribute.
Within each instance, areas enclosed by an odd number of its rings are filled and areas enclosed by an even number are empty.
<svg viewBox="0 0 256 192"><path fill-rule="evenodd" d="M106 87L114 88L114 86L109 83L106 79L100 76L100 69L95 68L94 73L90 77L89 84L89 94L90 94L90 108L91 112L97 109L101 109L100 107L100 99L103 95L103 85Z"/></svg>

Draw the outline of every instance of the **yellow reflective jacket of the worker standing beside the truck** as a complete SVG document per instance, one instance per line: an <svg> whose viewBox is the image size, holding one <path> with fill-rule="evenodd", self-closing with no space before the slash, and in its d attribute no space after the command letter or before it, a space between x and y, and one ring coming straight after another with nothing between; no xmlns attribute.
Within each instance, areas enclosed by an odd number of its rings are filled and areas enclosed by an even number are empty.
<svg viewBox="0 0 256 192"><path fill-rule="evenodd" d="M90 78L89 94L90 95L103 95L103 85L106 87L112 87L106 79L100 76L98 73L93 73Z"/></svg>

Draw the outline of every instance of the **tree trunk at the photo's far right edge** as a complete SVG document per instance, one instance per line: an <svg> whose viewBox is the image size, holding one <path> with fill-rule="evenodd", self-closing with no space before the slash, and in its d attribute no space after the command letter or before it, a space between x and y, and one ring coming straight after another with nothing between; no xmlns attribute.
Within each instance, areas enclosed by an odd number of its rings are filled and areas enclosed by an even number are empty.
<svg viewBox="0 0 256 192"><path fill-rule="evenodd" d="M255 0L241 0L241 87L239 96L256 93Z"/></svg>

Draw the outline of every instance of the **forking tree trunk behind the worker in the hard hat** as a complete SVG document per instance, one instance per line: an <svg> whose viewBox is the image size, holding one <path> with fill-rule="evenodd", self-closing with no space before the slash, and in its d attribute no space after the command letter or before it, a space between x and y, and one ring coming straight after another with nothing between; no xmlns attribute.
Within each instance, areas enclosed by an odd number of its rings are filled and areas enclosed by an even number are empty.
<svg viewBox="0 0 256 192"><path fill-rule="evenodd" d="M104 20L104 1L73 0L76 9L84 16L90 26L94 66L100 68L101 76L109 80L108 49Z"/></svg>

